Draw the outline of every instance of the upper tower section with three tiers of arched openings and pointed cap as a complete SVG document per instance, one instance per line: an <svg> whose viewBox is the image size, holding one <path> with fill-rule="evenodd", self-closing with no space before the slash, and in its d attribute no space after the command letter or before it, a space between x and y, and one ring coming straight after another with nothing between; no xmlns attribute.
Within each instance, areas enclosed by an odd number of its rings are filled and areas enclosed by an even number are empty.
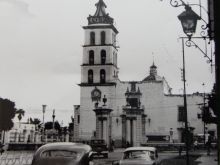
<svg viewBox="0 0 220 165"><path fill-rule="evenodd" d="M81 85L110 85L118 74L117 29L114 19L106 13L103 0L96 3L96 12L89 15L88 26L84 26L83 64Z"/></svg>

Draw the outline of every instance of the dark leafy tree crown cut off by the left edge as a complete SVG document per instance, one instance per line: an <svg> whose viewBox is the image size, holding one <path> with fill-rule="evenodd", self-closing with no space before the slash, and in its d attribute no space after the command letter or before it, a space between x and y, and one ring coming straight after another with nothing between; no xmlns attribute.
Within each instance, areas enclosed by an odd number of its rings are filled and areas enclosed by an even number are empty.
<svg viewBox="0 0 220 165"><path fill-rule="evenodd" d="M8 131L13 127L12 119L15 117L15 112L14 102L0 98L0 131Z"/></svg>

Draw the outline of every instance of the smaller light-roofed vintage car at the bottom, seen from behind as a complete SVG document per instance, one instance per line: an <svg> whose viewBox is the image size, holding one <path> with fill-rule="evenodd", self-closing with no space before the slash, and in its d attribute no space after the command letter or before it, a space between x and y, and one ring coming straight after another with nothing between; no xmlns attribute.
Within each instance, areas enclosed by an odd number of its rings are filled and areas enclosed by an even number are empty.
<svg viewBox="0 0 220 165"><path fill-rule="evenodd" d="M129 147L125 149L123 157L113 165L159 165L157 149L155 147Z"/></svg>

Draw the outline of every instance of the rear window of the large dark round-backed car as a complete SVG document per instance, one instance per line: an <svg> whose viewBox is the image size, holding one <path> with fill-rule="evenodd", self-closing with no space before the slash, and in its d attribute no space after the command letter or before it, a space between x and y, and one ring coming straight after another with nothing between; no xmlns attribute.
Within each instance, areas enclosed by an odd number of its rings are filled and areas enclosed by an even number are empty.
<svg viewBox="0 0 220 165"><path fill-rule="evenodd" d="M81 156L81 154L82 154L81 152L68 151L68 150L48 150L42 152L41 157L42 158L63 157L63 158L78 159Z"/></svg>

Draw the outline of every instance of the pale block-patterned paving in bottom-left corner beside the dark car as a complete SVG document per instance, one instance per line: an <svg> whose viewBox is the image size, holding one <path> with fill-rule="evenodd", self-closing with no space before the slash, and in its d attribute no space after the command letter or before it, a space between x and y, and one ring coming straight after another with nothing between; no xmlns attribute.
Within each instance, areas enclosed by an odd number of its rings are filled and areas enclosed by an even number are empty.
<svg viewBox="0 0 220 165"><path fill-rule="evenodd" d="M30 165L32 159L31 151L7 151L0 155L0 165Z"/></svg>

